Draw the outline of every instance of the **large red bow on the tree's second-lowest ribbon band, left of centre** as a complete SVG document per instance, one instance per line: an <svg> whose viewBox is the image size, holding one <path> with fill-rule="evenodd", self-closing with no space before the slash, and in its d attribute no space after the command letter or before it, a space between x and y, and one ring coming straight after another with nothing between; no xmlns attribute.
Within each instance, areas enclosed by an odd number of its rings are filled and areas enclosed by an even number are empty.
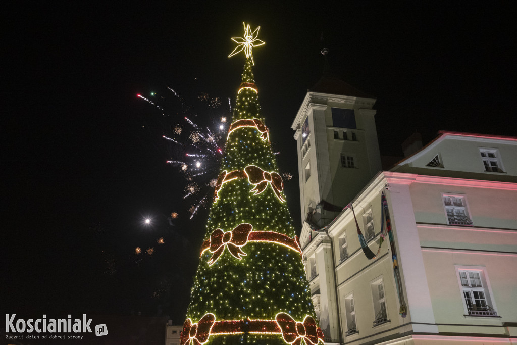
<svg viewBox="0 0 517 345"><path fill-rule="evenodd" d="M210 235L210 252L214 254L208 260L208 265L211 266L216 263L224 248L228 248L237 259L242 259L241 256L245 256L246 253L240 247L248 242L251 230L253 230L253 226L248 223L239 224L235 229L228 232L223 232L221 229L214 230Z"/></svg>

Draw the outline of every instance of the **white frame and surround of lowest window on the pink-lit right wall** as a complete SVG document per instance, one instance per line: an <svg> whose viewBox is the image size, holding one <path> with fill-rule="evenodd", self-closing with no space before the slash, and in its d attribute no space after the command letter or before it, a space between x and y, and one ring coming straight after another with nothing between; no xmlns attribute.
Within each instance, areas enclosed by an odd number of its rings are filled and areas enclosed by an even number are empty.
<svg viewBox="0 0 517 345"><path fill-rule="evenodd" d="M454 265L456 270L456 276L458 278L458 286L460 287L460 296L463 303L464 315L468 317L498 317L497 306L493 298L492 286L488 279L488 273L484 266L465 266L465 265ZM460 272L465 272L467 277L467 285L465 286L465 279L462 280ZM479 275L480 281L473 280L469 273L475 273ZM474 282L474 283L473 283ZM481 285L481 286L479 286ZM475 305L475 293L482 292L484 295L485 304L488 307L481 307ZM465 293L469 293L469 297ZM467 299L470 299L470 306L467 304Z"/></svg>

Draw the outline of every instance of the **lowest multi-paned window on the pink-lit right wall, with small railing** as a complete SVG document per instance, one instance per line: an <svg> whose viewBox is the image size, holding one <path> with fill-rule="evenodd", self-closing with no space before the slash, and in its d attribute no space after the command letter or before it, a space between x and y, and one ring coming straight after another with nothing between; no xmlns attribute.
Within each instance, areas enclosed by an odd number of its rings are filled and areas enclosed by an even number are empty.
<svg viewBox="0 0 517 345"><path fill-rule="evenodd" d="M497 311L492 307L488 281L484 267L458 268L458 279L463 295L463 307L465 314L470 316L497 316Z"/></svg>

